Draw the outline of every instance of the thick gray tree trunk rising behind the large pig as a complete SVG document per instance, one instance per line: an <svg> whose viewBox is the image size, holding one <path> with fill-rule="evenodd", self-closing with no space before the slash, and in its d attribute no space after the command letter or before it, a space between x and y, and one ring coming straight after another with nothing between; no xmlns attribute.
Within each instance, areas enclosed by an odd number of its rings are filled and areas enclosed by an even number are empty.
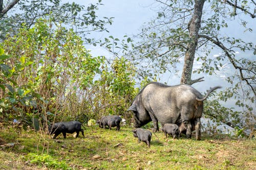
<svg viewBox="0 0 256 170"><path fill-rule="evenodd" d="M202 17L204 2L205 0L195 0L194 14L188 24L190 40L187 44L187 51L185 54L184 66L183 66L183 71L182 71L182 76L180 81L181 84L191 85L197 82L204 81L202 80L203 77L196 80L191 80L193 63L195 59L195 53L196 53L197 42L198 42L198 33L199 33L199 29L201 28L201 17Z"/></svg>

